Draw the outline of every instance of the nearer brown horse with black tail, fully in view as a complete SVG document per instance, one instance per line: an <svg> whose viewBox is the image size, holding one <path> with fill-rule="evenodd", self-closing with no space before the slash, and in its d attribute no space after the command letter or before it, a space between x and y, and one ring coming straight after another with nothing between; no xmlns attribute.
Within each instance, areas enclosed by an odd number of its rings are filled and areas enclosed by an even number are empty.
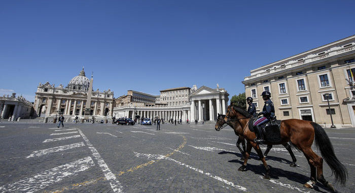
<svg viewBox="0 0 355 193"><path fill-rule="evenodd" d="M228 119L232 119L235 120L237 124L240 124L243 128L243 136L247 141L244 163L238 170L246 171L247 160L252 147L254 147L266 170L264 178L270 179L270 168L265 162L265 157L263 156L259 145L253 142L256 138L255 133L251 132L248 128L248 122L251 117L252 116L248 112L237 106L228 106L225 120L228 121ZM313 185L318 180L332 191L336 191L333 185L323 176L323 158L334 173L336 182L340 182L342 185L345 184L347 170L336 157L333 145L330 142L327 133L320 125L311 121L299 119L282 120L280 124L280 136L281 142L277 144L288 143L291 141L295 147L303 152L307 159L311 172L310 180L303 185L304 187L313 188ZM315 141L315 146L321 151L323 158L313 152L311 148L313 141ZM266 142L266 144L276 145L275 143L271 144L268 142Z"/></svg>

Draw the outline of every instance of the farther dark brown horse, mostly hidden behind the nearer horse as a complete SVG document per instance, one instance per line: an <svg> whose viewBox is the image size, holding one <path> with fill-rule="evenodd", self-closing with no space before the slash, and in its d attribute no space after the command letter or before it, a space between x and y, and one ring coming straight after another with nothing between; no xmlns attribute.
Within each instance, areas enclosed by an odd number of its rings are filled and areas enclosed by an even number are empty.
<svg viewBox="0 0 355 193"><path fill-rule="evenodd" d="M238 137L238 141L237 141L237 147L240 151L240 153L243 155L243 157L241 157L242 160L244 160L244 152L245 152L245 141L244 141L244 136L243 136L243 128L241 128L240 124L237 122L237 121L226 121L225 120L225 117L226 115L222 115L222 114L219 114L218 113L218 116L217 116L217 122L216 122L216 131L220 131L222 128L224 128L224 124L227 124L229 125L230 127L233 128L233 131L235 133L236 136L239 136ZM243 146L243 150L241 150L241 148L239 147L239 144L242 143L242 146ZM291 149L291 146L288 144L288 143L284 143L282 144L283 146L285 146L285 148L289 151L290 155L291 155L291 158L292 158L292 163L290 164L291 167L296 167L296 157L295 155L293 154L292 152L292 149ZM268 145L267 146L267 149L265 150L264 152L264 156L267 155L267 153L270 151L270 149L272 148L272 145Z"/></svg>

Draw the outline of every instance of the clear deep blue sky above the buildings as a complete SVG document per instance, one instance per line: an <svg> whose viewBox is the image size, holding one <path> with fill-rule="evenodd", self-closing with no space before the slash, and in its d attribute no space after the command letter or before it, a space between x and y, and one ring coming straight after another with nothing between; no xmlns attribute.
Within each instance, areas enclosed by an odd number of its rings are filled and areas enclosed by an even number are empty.
<svg viewBox="0 0 355 193"><path fill-rule="evenodd" d="M0 94L34 101L82 66L96 90L197 84L244 92L250 70L355 34L355 1L0 1Z"/></svg>

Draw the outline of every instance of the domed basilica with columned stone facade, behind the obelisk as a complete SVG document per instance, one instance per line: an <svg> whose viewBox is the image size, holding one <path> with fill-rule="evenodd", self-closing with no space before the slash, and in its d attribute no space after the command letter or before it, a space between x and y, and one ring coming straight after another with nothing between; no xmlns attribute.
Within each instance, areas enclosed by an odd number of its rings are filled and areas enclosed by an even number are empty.
<svg viewBox="0 0 355 193"><path fill-rule="evenodd" d="M85 76L84 68L66 87L40 83L35 92L34 110L38 116L56 116L58 112L64 116L84 115L89 87L90 81ZM92 91L90 103L90 115L111 117L114 92L110 89Z"/></svg>

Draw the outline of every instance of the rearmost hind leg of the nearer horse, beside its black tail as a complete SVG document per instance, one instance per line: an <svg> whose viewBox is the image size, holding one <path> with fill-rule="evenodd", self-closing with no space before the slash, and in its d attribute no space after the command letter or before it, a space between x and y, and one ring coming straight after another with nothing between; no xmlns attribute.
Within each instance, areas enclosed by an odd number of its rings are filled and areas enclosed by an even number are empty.
<svg viewBox="0 0 355 193"><path fill-rule="evenodd" d="M323 158L313 152L313 150L308 147L303 151L307 156L309 156L309 162L316 168L316 177L319 182L321 182L324 186L328 187L333 192L336 192L333 185L328 182L323 176ZM312 171L311 171L312 172Z"/></svg>

